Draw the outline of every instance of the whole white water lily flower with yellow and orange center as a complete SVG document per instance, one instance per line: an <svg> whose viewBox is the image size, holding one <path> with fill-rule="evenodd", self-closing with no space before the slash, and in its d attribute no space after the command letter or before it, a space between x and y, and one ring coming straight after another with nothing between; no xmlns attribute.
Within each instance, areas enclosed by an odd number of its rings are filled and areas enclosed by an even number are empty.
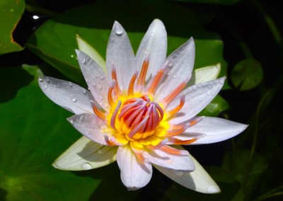
<svg viewBox="0 0 283 201"><path fill-rule="evenodd" d="M115 21L106 63L76 50L88 90L70 81L39 78L42 91L75 114L68 120L83 134L54 161L55 168L80 171L117 161L122 183L137 190L149 183L154 166L186 188L220 192L180 145L220 142L247 125L197 116L219 93L225 77L215 79L220 68L214 66L195 71L192 81L194 40L166 58L166 37L163 23L154 20L134 55L125 29Z"/></svg>

